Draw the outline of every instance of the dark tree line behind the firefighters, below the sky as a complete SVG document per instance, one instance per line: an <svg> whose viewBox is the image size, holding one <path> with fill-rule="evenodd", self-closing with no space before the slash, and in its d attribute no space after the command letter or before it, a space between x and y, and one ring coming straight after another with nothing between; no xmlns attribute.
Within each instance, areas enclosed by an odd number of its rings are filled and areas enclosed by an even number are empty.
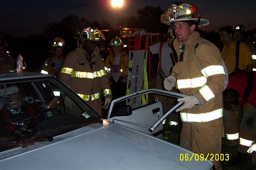
<svg viewBox="0 0 256 170"><path fill-rule="evenodd" d="M137 10L137 16L126 16L120 18L119 24L128 28L143 28L146 32L160 33L164 35L168 31L169 25L160 22L160 16L164 13L160 7L146 6ZM64 55L74 50L78 31L86 27L102 29L113 29L109 21L102 20L88 21L86 18L75 15L64 17L61 21L54 21L43 25L44 31L40 35L32 35L26 38L17 38L10 34L1 35L8 42L11 56L16 58L19 53L24 56L29 71L40 71L42 63L49 58L49 49L54 37L62 37L66 42ZM116 25L116 28L119 25ZM218 48L222 45L217 32L198 30L202 37L214 43Z"/></svg>

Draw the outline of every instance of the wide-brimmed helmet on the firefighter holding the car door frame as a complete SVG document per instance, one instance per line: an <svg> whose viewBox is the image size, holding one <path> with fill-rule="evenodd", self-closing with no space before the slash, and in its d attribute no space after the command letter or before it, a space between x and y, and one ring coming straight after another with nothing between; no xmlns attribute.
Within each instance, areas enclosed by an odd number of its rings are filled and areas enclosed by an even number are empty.
<svg viewBox="0 0 256 170"><path fill-rule="evenodd" d="M174 2L172 6L161 16L161 22L172 25L174 22L194 21L200 27L210 23L209 20L201 18L198 9L193 4L182 4Z"/></svg>

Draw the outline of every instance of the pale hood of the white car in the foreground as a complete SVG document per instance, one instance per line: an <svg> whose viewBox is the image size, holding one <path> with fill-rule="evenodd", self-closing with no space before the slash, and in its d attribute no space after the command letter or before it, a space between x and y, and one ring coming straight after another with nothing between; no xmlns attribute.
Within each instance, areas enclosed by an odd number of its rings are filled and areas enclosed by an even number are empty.
<svg viewBox="0 0 256 170"><path fill-rule="evenodd" d="M211 169L210 161L180 161L188 153L161 139L108 122L0 153L0 169L8 170L187 170ZM4 156L6 155L6 156Z"/></svg>

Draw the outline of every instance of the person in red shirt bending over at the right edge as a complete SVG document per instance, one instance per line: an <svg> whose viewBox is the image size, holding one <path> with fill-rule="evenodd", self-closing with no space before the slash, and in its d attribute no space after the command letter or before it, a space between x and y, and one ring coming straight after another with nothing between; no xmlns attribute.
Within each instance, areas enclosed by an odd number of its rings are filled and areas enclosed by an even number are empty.
<svg viewBox="0 0 256 170"><path fill-rule="evenodd" d="M256 143L256 72L239 70L230 75L223 92L226 142L238 146L238 155ZM239 106L240 105L240 106ZM237 114L243 107L242 119ZM254 152L256 155L256 152ZM255 162L254 162L255 164Z"/></svg>

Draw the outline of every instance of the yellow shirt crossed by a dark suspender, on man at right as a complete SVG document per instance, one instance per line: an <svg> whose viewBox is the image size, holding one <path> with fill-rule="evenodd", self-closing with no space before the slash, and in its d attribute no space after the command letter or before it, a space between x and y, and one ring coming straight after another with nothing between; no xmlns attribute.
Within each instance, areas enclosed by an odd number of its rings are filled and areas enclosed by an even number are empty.
<svg viewBox="0 0 256 170"><path fill-rule="evenodd" d="M228 74L233 72L236 67L235 53L236 53L236 41L229 48L227 48L226 45L224 45L221 51L221 56L227 66ZM254 65L254 62L252 60L252 54L250 52L250 49L247 47L247 45L241 42L239 47L239 69L246 70L248 64Z"/></svg>

